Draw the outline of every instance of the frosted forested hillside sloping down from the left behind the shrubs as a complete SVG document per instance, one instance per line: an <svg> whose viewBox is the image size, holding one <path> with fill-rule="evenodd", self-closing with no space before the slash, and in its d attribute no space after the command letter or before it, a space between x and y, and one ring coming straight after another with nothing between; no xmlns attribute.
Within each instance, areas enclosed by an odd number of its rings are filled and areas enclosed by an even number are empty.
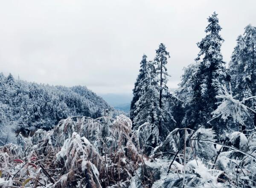
<svg viewBox="0 0 256 188"><path fill-rule="evenodd" d="M52 129L70 116L99 117L110 107L86 87L49 86L0 74L0 145L16 142L20 131Z"/></svg>

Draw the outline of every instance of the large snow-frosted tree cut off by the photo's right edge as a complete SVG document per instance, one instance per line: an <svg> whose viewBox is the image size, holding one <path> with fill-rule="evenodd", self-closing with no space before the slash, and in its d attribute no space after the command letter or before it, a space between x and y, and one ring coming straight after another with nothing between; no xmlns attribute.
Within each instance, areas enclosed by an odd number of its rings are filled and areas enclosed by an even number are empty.
<svg viewBox="0 0 256 188"><path fill-rule="evenodd" d="M256 95L256 27L245 27L244 35L237 38L236 47L230 61L230 75L233 93L239 100ZM255 110L255 101L246 101ZM253 115L256 126L256 114ZM246 116L245 116L246 117Z"/></svg>

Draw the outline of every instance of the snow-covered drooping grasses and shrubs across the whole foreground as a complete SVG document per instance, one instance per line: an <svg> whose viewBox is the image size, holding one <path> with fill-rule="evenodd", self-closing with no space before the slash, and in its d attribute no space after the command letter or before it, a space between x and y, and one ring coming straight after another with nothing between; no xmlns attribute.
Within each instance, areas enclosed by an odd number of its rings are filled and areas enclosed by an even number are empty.
<svg viewBox="0 0 256 188"><path fill-rule="evenodd" d="M224 142L217 142L212 128L176 128L158 142L154 124L131 128L132 121L121 115L76 116L61 120L53 130L39 129L23 138L23 146L0 148L0 184L4 188L255 186L255 130L230 133Z"/></svg>

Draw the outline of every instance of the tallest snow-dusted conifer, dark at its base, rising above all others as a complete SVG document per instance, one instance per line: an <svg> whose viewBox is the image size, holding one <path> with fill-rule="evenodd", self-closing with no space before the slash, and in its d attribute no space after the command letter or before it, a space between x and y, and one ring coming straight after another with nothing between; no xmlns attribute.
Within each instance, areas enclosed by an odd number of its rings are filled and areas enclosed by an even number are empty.
<svg viewBox="0 0 256 188"><path fill-rule="evenodd" d="M198 61L199 66L190 80L193 96L183 120L188 127L196 127L211 118L211 112L217 107L215 96L220 92L221 84L228 80L221 55L221 44L224 40L219 32L222 28L217 15L214 12L208 18L209 24L205 30L207 35L198 43L200 52L195 61ZM215 125L214 128L219 129L218 123Z"/></svg>

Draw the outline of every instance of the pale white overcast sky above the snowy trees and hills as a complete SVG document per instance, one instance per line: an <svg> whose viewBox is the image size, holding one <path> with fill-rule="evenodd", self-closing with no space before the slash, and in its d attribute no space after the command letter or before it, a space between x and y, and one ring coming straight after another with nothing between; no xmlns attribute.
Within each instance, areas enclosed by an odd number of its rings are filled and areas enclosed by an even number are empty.
<svg viewBox="0 0 256 188"><path fill-rule="evenodd" d="M0 72L38 83L131 93L145 53L166 44L169 87L198 53L216 11L225 61L244 27L256 26L255 0L0 0Z"/></svg>

